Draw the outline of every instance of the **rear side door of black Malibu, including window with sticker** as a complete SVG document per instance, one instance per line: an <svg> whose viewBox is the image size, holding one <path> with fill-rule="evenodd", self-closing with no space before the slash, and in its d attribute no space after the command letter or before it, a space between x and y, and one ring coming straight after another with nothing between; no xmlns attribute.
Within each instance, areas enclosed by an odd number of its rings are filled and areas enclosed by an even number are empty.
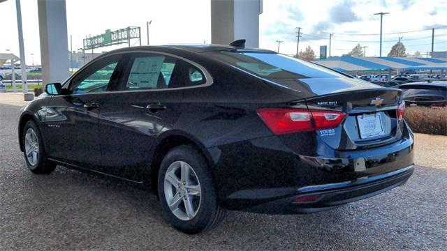
<svg viewBox="0 0 447 251"><path fill-rule="evenodd" d="M198 68L158 52L129 57L121 91L110 93L101 106L101 165L108 174L143 181L157 138L175 128L182 113L183 89L192 83L189 72ZM191 72L196 84L202 82L198 71Z"/></svg>

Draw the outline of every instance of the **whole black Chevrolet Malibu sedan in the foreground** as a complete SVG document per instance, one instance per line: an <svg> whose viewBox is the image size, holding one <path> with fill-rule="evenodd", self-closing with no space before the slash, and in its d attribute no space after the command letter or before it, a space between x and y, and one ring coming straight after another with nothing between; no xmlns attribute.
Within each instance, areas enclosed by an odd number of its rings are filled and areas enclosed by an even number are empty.
<svg viewBox="0 0 447 251"><path fill-rule="evenodd" d="M147 183L189 234L226 210L312 213L413 173L399 89L242 43L115 50L45 93L18 126L31 172Z"/></svg>

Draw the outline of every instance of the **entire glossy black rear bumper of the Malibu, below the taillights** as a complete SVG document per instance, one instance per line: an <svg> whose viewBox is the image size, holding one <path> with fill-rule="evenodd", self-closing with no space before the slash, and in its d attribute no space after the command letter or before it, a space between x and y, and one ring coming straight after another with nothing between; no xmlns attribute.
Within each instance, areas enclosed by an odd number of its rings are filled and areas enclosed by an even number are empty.
<svg viewBox="0 0 447 251"><path fill-rule="evenodd" d="M255 139L219 149L225 168L218 166L214 176L221 206L256 213L312 213L386 192L413 174L411 134L393 144L340 152L334 158L284 151L282 142L275 140ZM304 201L294 202L297 198Z"/></svg>

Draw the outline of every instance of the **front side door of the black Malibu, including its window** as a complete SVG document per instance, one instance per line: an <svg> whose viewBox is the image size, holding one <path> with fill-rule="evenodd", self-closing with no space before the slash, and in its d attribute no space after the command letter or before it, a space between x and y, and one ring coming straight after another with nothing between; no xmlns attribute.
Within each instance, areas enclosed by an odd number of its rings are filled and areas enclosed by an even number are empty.
<svg viewBox="0 0 447 251"><path fill-rule="evenodd" d="M120 59L98 59L64 84L65 95L52 97L45 116L51 158L80 167L101 165L99 108L106 91L118 84Z"/></svg>

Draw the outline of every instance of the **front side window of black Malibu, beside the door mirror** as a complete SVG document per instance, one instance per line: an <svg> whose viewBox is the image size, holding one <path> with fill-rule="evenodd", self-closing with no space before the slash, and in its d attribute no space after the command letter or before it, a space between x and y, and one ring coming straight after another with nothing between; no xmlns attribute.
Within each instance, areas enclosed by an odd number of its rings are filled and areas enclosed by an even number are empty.
<svg viewBox="0 0 447 251"><path fill-rule="evenodd" d="M95 93L107 91L115 80L115 69L121 56L110 56L96 61L76 75L70 84L73 94Z"/></svg>

